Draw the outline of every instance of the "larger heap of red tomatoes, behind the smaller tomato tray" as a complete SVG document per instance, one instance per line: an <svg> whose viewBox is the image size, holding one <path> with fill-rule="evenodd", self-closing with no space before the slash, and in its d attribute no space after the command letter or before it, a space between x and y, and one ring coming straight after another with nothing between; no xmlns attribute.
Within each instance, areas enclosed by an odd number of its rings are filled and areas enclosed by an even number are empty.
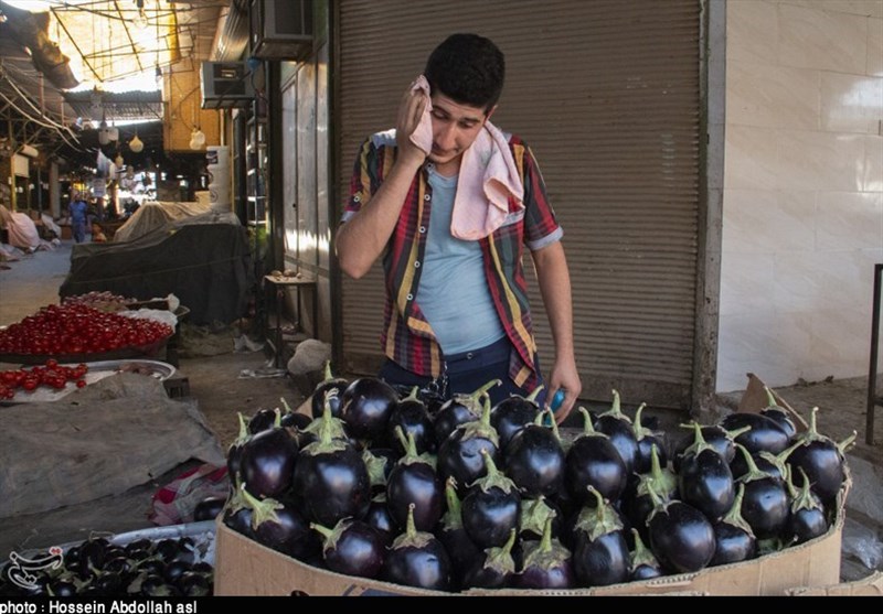
<svg viewBox="0 0 883 614"><path fill-rule="evenodd" d="M0 354L57 356L149 347L172 335L168 324L82 303L52 304L0 331Z"/></svg>

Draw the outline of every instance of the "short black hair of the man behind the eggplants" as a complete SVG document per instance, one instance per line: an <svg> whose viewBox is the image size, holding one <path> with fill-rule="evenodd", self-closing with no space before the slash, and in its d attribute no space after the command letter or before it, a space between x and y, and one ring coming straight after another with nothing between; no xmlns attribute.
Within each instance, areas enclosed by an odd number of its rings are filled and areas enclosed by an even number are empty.
<svg viewBox="0 0 883 614"><path fill-rule="evenodd" d="M429 54L423 74L432 91L487 114L503 90L506 60L490 39L451 34Z"/></svg>

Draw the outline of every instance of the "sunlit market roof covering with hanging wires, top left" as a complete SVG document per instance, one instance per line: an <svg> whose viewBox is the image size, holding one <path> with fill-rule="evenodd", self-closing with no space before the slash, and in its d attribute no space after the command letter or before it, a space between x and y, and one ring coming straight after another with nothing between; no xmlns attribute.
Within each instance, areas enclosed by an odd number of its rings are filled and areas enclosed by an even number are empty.
<svg viewBox="0 0 883 614"><path fill-rule="evenodd" d="M0 0L0 154L28 146L43 160L94 160L102 121L161 125L161 75L209 60L238 4Z"/></svg>

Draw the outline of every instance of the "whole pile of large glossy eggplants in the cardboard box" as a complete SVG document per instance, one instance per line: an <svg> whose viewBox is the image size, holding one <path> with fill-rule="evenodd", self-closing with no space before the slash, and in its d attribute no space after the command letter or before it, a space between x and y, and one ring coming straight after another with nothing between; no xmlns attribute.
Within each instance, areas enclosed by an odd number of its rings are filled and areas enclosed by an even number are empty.
<svg viewBox="0 0 883 614"><path fill-rule="evenodd" d="M845 449L775 403L664 433L613 392L563 438L531 397L442 401L326 366L312 416L240 416L230 528L317 568L407 586L581 589L745 561L826 534ZM647 422L648 424L645 424Z"/></svg>

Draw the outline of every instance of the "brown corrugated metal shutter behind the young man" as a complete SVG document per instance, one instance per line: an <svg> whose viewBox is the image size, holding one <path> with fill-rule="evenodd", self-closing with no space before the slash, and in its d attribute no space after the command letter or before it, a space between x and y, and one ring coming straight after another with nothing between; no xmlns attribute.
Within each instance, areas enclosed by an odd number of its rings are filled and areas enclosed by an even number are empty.
<svg viewBox="0 0 883 614"><path fill-rule="evenodd" d="M585 399L688 408L695 322L700 4L696 0L340 2L340 185L362 139L453 32L507 55L494 115L532 147L565 230ZM379 356L380 266L343 281L343 347ZM541 356L551 334L536 286Z"/></svg>

